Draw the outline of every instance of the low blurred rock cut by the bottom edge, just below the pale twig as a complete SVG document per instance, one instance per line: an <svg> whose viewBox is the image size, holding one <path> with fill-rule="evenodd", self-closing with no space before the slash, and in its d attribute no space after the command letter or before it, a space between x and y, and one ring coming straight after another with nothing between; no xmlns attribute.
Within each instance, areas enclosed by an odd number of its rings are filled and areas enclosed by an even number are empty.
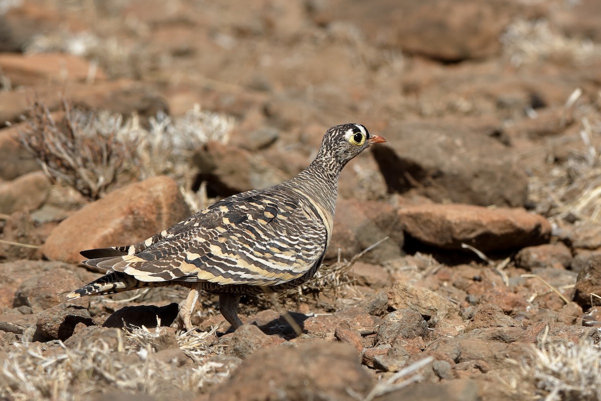
<svg viewBox="0 0 601 401"><path fill-rule="evenodd" d="M473 379L455 379L439 383L413 383L394 390L374 401L429 400L429 401L479 401L483 383Z"/></svg>

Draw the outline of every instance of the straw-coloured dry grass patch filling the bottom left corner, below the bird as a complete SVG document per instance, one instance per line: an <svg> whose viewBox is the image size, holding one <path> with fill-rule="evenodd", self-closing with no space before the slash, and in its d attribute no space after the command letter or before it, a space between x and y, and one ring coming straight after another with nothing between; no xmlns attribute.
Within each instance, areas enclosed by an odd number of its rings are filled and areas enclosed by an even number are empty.
<svg viewBox="0 0 601 401"><path fill-rule="evenodd" d="M116 390L177 397L203 391L229 376L224 364L204 362L214 354L206 344L214 330L177 336L183 352L198 363L181 368L150 357L160 330L130 328L120 337L117 350L101 339L85 349L60 342L52 349L46 344L15 343L0 366L0 399L85 400Z"/></svg>

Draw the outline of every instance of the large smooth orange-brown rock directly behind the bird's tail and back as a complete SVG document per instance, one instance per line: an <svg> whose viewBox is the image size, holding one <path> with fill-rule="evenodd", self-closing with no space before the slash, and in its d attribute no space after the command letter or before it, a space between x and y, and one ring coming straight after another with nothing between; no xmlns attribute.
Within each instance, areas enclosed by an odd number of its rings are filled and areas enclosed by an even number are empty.
<svg viewBox="0 0 601 401"><path fill-rule="evenodd" d="M177 183L153 177L111 192L59 224L42 248L48 259L80 262L85 249L140 242L191 214Z"/></svg>

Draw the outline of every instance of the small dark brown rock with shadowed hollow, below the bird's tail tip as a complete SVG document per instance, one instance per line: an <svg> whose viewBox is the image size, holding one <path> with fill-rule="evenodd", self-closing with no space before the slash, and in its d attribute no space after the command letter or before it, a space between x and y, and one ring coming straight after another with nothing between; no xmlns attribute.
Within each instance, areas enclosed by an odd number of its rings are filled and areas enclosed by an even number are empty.
<svg viewBox="0 0 601 401"><path fill-rule="evenodd" d="M59 304L41 311L36 326L38 333L47 340L64 341L73 335L76 326L80 323L85 326L94 325L94 320L86 308Z"/></svg>

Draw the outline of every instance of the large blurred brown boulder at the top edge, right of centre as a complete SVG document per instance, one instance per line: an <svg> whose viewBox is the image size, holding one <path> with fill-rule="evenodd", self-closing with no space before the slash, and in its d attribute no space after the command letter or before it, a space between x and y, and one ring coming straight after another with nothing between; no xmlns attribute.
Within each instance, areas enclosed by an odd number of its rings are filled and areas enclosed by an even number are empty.
<svg viewBox="0 0 601 401"><path fill-rule="evenodd" d="M316 2L317 3L317 2ZM319 2L314 19L320 25L337 20L355 23L371 44L402 49L435 60L486 58L501 51L499 37L526 7L511 1L450 0ZM323 5L325 4L325 5ZM398 24L402 20L402 24Z"/></svg>

